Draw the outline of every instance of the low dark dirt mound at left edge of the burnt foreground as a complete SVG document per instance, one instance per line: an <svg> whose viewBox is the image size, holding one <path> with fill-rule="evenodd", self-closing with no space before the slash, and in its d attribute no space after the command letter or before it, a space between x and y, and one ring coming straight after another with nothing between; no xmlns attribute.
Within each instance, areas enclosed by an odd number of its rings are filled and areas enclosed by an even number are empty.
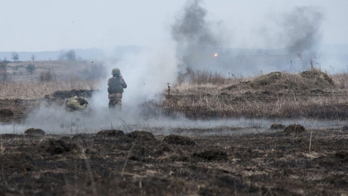
<svg viewBox="0 0 348 196"><path fill-rule="evenodd" d="M3 154L0 163L0 171L9 174L37 171L33 158L22 152Z"/></svg>

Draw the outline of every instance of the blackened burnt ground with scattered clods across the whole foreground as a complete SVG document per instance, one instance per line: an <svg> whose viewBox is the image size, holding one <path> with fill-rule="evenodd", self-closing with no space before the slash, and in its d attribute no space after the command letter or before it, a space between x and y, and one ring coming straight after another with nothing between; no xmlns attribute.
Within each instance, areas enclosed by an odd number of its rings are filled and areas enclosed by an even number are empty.
<svg viewBox="0 0 348 196"><path fill-rule="evenodd" d="M0 195L347 194L348 131L310 135L5 134Z"/></svg>

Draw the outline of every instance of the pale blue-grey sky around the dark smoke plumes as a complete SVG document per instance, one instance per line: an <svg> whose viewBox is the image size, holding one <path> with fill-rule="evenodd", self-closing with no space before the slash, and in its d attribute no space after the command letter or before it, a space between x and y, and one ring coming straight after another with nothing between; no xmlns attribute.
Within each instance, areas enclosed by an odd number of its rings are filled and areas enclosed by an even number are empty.
<svg viewBox="0 0 348 196"><path fill-rule="evenodd" d="M0 51L148 46L170 39L170 27L185 0L0 0ZM254 32L295 6L324 13L324 44L348 44L347 0L205 0L207 19L221 21L229 47L259 48ZM267 40L266 40L267 42Z"/></svg>

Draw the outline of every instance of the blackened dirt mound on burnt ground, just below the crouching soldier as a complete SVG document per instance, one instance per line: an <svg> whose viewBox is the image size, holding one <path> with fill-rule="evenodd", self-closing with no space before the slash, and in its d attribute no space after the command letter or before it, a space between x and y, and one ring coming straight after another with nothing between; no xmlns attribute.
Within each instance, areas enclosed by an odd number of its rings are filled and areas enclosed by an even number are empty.
<svg viewBox="0 0 348 196"><path fill-rule="evenodd" d="M44 145L41 146L46 149L46 152L50 154L62 154L66 152L70 152L72 150L76 150L78 147L74 144L67 144L62 140L48 139Z"/></svg>

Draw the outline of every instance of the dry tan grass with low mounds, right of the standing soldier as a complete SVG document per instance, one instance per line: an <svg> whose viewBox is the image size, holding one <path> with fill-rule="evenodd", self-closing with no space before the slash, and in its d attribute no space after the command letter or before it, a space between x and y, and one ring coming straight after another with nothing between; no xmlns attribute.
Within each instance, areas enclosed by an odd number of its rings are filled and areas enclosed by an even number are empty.
<svg viewBox="0 0 348 196"><path fill-rule="evenodd" d="M310 70L240 78L242 82L229 80L231 85L182 83L174 86L171 95L158 107L168 113L179 111L192 118L342 119L348 118L347 76L329 76L319 70Z"/></svg>

